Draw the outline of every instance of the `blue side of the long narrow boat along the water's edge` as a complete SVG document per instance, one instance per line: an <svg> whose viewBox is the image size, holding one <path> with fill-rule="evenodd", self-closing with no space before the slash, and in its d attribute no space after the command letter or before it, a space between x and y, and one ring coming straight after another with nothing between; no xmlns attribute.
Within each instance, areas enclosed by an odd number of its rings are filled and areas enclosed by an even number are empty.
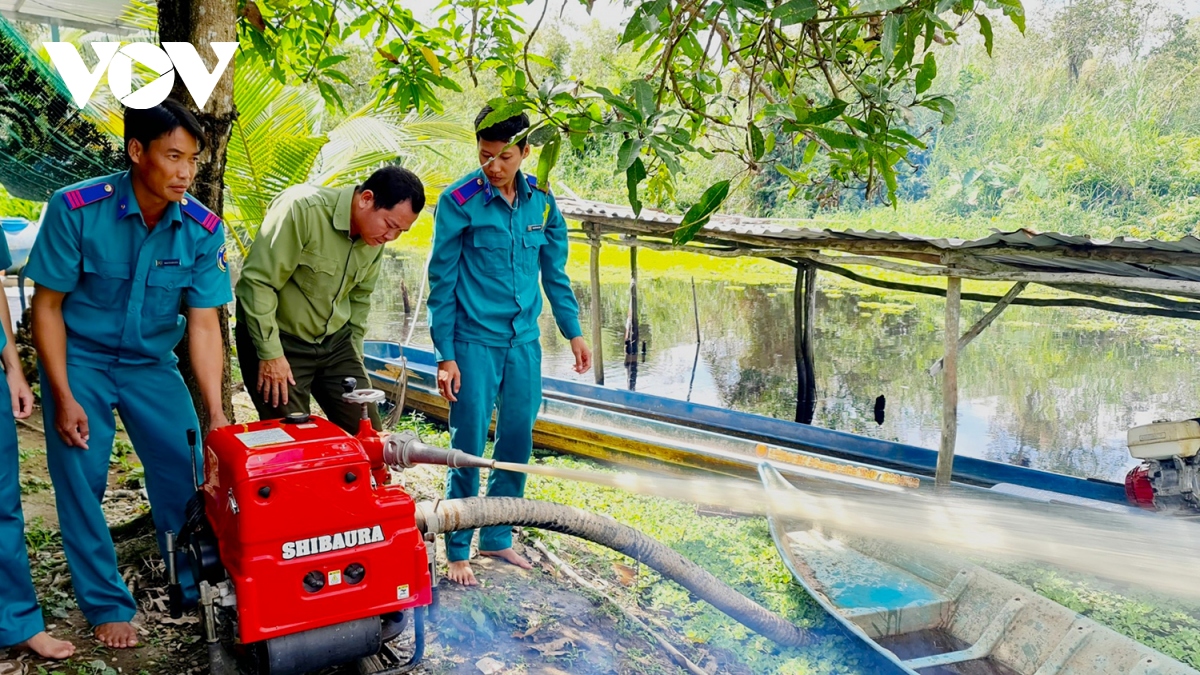
<svg viewBox="0 0 1200 675"><path fill-rule="evenodd" d="M364 352L367 371L382 371L388 366L397 366L403 354L409 371L422 380L428 378L431 382L436 380L437 362L433 358L433 352L428 350L368 340ZM937 452L928 448L637 392L544 377L542 393L551 399L589 407L653 418L917 474L932 476L937 466ZM983 486L1003 483L1087 500L1126 503L1124 488L1117 483L1076 478L961 455L954 458L954 479Z"/></svg>

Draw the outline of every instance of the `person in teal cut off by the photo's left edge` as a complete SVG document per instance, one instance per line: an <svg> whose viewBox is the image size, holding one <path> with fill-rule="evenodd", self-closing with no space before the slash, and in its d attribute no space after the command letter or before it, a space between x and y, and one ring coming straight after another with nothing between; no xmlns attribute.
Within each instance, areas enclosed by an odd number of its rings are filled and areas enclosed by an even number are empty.
<svg viewBox="0 0 1200 675"><path fill-rule="evenodd" d="M8 241L0 233L0 270L12 267ZM0 298L0 404L12 402L12 414L24 419L34 412L34 392L25 382L20 357L12 339L12 317L7 298ZM12 645L22 645L43 658L67 658L74 645L52 638L42 622L29 556L25 554L25 520L20 513L20 459L17 447L17 423L0 414L0 655ZM6 662L0 659L0 671ZM20 673L18 665L18 673Z"/></svg>

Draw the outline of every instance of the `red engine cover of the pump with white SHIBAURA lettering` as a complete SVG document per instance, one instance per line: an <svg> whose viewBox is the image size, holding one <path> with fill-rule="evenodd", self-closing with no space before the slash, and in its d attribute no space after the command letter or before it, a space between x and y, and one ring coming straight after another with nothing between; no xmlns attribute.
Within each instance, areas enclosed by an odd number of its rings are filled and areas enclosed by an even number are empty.
<svg viewBox="0 0 1200 675"><path fill-rule="evenodd" d="M204 466L242 644L430 604L413 498L372 485L362 444L335 424L217 429Z"/></svg>

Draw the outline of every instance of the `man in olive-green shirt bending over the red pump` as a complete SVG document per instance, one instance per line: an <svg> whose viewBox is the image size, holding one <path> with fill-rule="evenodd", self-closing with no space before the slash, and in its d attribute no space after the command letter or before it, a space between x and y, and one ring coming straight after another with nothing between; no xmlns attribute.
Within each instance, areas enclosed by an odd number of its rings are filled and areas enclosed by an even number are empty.
<svg viewBox="0 0 1200 675"><path fill-rule="evenodd" d="M350 434L342 380L367 382L362 338L383 245L413 226L425 187L384 167L356 187L298 186L268 209L238 280L238 363L262 419L308 412L310 395ZM371 406L371 420L382 429Z"/></svg>

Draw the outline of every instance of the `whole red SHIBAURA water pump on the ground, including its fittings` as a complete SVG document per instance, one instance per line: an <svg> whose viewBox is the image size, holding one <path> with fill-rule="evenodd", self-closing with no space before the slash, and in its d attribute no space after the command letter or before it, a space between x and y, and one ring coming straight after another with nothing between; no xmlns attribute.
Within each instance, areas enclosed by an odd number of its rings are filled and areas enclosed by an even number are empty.
<svg viewBox="0 0 1200 675"><path fill-rule="evenodd" d="M384 442L367 417L384 394L355 386L347 378L343 394L362 406L355 436L295 414L205 438L204 482L180 536L168 533L167 572L179 615L174 551L185 552L214 675L294 675L354 661L360 673L395 674L421 658L433 545L418 530L413 498L389 484ZM426 461L445 464L438 459ZM402 655L390 641L407 637L409 623L412 649Z"/></svg>

